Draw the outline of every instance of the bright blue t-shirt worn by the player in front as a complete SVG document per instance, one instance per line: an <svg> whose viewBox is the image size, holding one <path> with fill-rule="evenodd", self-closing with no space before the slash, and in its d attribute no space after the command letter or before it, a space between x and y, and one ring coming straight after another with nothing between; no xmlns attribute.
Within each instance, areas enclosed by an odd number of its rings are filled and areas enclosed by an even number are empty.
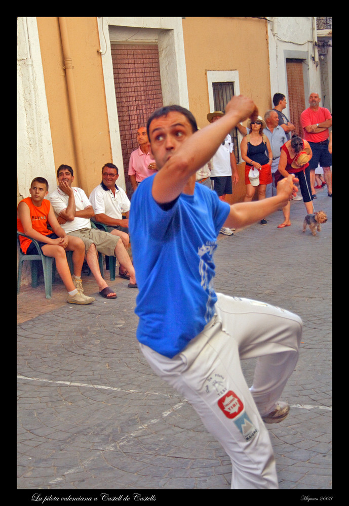
<svg viewBox="0 0 349 506"><path fill-rule="evenodd" d="M214 314L213 253L230 210L215 192L196 184L162 209L153 178L132 196L129 230L139 293L137 339L169 358L183 350Z"/></svg>

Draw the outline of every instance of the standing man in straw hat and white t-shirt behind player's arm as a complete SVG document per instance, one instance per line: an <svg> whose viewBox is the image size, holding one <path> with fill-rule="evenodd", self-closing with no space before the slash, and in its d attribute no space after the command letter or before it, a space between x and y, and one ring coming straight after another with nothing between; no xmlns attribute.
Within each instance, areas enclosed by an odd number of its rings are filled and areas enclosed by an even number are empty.
<svg viewBox="0 0 349 506"><path fill-rule="evenodd" d="M224 115L222 111L214 111L207 115L210 123L214 123ZM212 158L213 169L211 171L211 181L213 182L213 190L217 193L220 200L225 201L225 195L232 193L232 179L234 184L239 181L237 161L234 154L234 144L228 134L224 142L219 146L216 153ZM227 227L222 227L221 234L234 235L232 230Z"/></svg>

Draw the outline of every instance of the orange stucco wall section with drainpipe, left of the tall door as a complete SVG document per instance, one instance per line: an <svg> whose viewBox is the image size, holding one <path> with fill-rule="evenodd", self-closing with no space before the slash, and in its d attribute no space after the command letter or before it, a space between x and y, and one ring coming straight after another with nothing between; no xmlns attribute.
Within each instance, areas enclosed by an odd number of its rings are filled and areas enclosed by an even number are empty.
<svg viewBox="0 0 349 506"><path fill-rule="evenodd" d="M100 182L104 163L112 162L99 34L96 17L66 17L76 100L77 134L72 128L58 17L37 17L55 168L74 169L73 185L89 195ZM76 137L76 148L74 142ZM76 153L80 149L82 167Z"/></svg>

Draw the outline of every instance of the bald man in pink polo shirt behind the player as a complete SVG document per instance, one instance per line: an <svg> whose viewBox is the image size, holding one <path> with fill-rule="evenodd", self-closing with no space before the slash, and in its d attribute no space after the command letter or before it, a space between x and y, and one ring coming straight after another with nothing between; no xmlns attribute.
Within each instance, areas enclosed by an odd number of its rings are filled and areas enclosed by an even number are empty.
<svg viewBox="0 0 349 506"><path fill-rule="evenodd" d="M138 148L132 151L129 163L129 176L133 191L137 189L148 176L152 176L157 171L157 165L149 152L149 140L145 126L137 130Z"/></svg>

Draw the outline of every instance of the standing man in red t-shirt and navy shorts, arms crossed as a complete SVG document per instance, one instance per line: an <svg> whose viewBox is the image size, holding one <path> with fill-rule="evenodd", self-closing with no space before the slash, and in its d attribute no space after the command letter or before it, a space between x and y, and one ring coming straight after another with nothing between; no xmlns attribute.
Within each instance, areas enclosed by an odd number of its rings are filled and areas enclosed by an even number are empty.
<svg viewBox="0 0 349 506"><path fill-rule="evenodd" d="M300 115L300 122L304 132L303 138L308 141L313 151L313 157L309 160L313 198L316 198L314 189L315 169L319 163L324 170L328 196L332 197L332 154L328 150L328 129L332 126L332 114L325 107L319 106L320 101L321 98L318 93L311 93L309 97L310 106Z"/></svg>

